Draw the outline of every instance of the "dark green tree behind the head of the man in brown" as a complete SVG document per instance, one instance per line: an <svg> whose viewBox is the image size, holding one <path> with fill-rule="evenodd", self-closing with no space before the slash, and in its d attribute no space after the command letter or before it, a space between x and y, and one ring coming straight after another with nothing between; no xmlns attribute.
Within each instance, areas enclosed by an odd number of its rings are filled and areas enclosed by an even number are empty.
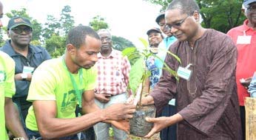
<svg viewBox="0 0 256 140"><path fill-rule="evenodd" d="M172 0L144 0L161 5L161 11L166 10ZM233 27L243 24L246 19L241 13L243 0L196 0L201 9L202 26L226 33Z"/></svg>

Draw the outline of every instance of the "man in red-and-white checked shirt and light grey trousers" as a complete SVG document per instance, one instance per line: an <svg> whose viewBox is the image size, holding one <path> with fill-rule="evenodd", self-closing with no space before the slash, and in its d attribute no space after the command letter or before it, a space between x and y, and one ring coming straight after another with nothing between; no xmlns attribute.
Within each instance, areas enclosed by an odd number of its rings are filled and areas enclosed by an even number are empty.
<svg viewBox="0 0 256 140"><path fill-rule="evenodd" d="M109 30L100 29L98 35L101 39L101 52L98 53L98 83L95 88L95 103L99 108L107 108L113 104L126 102L132 95L131 91L127 91L131 66L127 57L113 49L112 35ZM127 139L127 133L124 130L119 130L104 122L94 125L96 139L109 139L110 127L113 128L114 139Z"/></svg>

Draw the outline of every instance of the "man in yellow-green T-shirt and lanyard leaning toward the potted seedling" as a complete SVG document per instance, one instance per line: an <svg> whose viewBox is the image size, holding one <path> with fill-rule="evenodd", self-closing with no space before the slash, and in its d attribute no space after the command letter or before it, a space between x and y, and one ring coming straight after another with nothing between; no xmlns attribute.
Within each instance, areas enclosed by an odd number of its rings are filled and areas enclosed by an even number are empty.
<svg viewBox="0 0 256 140"><path fill-rule="evenodd" d="M97 122L107 122L128 131L135 105L115 104L100 109L94 102L97 70L94 65L101 49L98 34L78 26L67 35L62 57L46 60L34 71L27 100L30 107L26 126L30 138L80 139L77 133ZM75 117L79 104L82 116Z"/></svg>

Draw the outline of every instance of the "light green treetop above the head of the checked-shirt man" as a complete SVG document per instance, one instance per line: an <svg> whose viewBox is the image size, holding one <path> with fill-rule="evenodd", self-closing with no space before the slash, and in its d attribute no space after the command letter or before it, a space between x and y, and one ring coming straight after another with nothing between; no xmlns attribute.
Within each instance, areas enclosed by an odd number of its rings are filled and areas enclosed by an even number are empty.
<svg viewBox="0 0 256 140"><path fill-rule="evenodd" d="M89 25L95 31L98 31L98 29L108 29L109 28L109 24L107 24L105 22L105 19L101 18L100 15L97 15L94 18L92 18L92 21L90 21Z"/></svg>

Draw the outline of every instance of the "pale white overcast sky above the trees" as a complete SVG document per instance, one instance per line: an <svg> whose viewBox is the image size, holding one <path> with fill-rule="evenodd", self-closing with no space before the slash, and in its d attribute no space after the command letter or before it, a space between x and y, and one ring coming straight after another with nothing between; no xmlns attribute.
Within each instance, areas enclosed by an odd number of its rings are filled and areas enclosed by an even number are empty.
<svg viewBox="0 0 256 140"><path fill-rule="evenodd" d="M135 44L142 45L138 38L147 39L146 31L158 27L155 18L161 6L143 0L1 0L4 13L10 10L26 8L30 17L41 24L47 21L47 15L59 18L65 5L70 5L71 13L78 24L88 25L93 17L100 15L110 25L112 35L127 38ZM7 26L9 18L2 19Z"/></svg>

